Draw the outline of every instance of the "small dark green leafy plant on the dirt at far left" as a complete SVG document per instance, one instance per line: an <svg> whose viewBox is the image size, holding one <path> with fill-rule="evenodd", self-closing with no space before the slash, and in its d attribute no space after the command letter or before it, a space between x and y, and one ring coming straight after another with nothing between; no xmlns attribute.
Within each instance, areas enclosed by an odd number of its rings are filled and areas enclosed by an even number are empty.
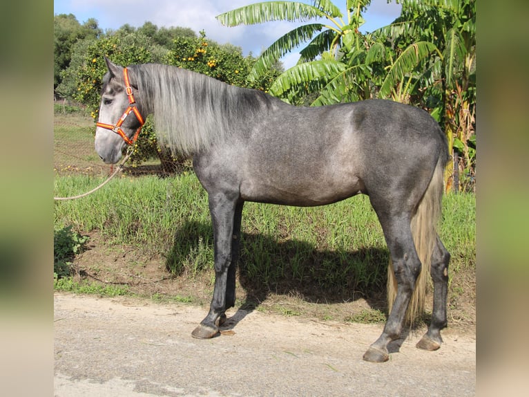
<svg viewBox="0 0 529 397"><path fill-rule="evenodd" d="M75 255L82 252L90 237L81 236L73 226L53 231L53 273L55 279L71 274Z"/></svg>

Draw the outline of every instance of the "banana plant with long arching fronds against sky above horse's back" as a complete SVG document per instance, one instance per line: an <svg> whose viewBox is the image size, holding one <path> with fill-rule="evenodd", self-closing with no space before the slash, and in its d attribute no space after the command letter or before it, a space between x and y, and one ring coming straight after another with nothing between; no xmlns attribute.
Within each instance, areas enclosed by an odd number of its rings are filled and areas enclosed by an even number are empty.
<svg viewBox="0 0 529 397"><path fill-rule="evenodd" d="M283 55L309 44L300 50L296 66L282 73L270 88L270 93L291 103L300 103L310 93L319 93L313 105L362 99L364 82L370 76L363 65L367 48L358 31L364 23L362 12L371 0L346 0L347 15L329 0L314 0L311 4L296 1L267 1L224 12L217 19L225 26L262 24L268 21L310 21L294 28L264 50L248 75L256 80ZM356 52L355 57L344 54ZM356 61L352 62L352 59ZM354 78L356 73L361 78Z"/></svg>

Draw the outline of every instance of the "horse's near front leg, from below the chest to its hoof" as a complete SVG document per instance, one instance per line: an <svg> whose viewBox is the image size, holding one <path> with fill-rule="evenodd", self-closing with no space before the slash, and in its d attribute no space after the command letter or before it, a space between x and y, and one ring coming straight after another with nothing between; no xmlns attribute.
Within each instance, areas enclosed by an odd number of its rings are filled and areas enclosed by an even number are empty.
<svg viewBox="0 0 529 397"><path fill-rule="evenodd" d="M210 194L209 211L213 223L213 241L215 246L215 287L209 313L191 333L194 338L208 339L218 334L218 326L215 324L224 322L224 312L227 304L233 306L235 302L227 302L227 287L231 292L231 284L234 275L229 275L232 262L233 245L233 219L237 207L237 199L231 199L226 194ZM230 276L230 277L229 277ZM228 286L228 283L230 284ZM234 284L234 283L233 283ZM233 288L235 289L235 288ZM233 291L234 293L234 291ZM231 294L229 294L231 295ZM234 297L233 297L234 298ZM231 301L231 299L230 299Z"/></svg>

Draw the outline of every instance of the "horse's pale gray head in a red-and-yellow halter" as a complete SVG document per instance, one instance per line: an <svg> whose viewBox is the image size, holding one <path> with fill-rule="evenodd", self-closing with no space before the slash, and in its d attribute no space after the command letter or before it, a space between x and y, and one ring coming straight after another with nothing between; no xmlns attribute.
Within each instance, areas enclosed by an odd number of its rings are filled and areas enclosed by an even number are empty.
<svg viewBox="0 0 529 397"><path fill-rule="evenodd" d="M95 151L106 164L115 164L121 158L124 146L134 144L144 118L135 102L137 86L131 84L127 69L113 64L106 57L105 61L108 73L103 77Z"/></svg>

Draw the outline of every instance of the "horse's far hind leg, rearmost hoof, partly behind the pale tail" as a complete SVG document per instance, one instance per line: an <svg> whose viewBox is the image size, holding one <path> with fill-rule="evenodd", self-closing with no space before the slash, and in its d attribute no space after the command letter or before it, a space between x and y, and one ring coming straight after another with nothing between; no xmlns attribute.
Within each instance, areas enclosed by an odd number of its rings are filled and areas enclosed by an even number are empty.
<svg viewBox="0 0 529 397"><path fill-rule="evenodd" d="M423 338L416 346L419 349L437 350L441 347L441 329L447 325L446 300L448 295L448 262L450 254L437 236L434 252L432 252L432 264L430 274L434 281L434 307L432 311L432 322Z"/></svg>

